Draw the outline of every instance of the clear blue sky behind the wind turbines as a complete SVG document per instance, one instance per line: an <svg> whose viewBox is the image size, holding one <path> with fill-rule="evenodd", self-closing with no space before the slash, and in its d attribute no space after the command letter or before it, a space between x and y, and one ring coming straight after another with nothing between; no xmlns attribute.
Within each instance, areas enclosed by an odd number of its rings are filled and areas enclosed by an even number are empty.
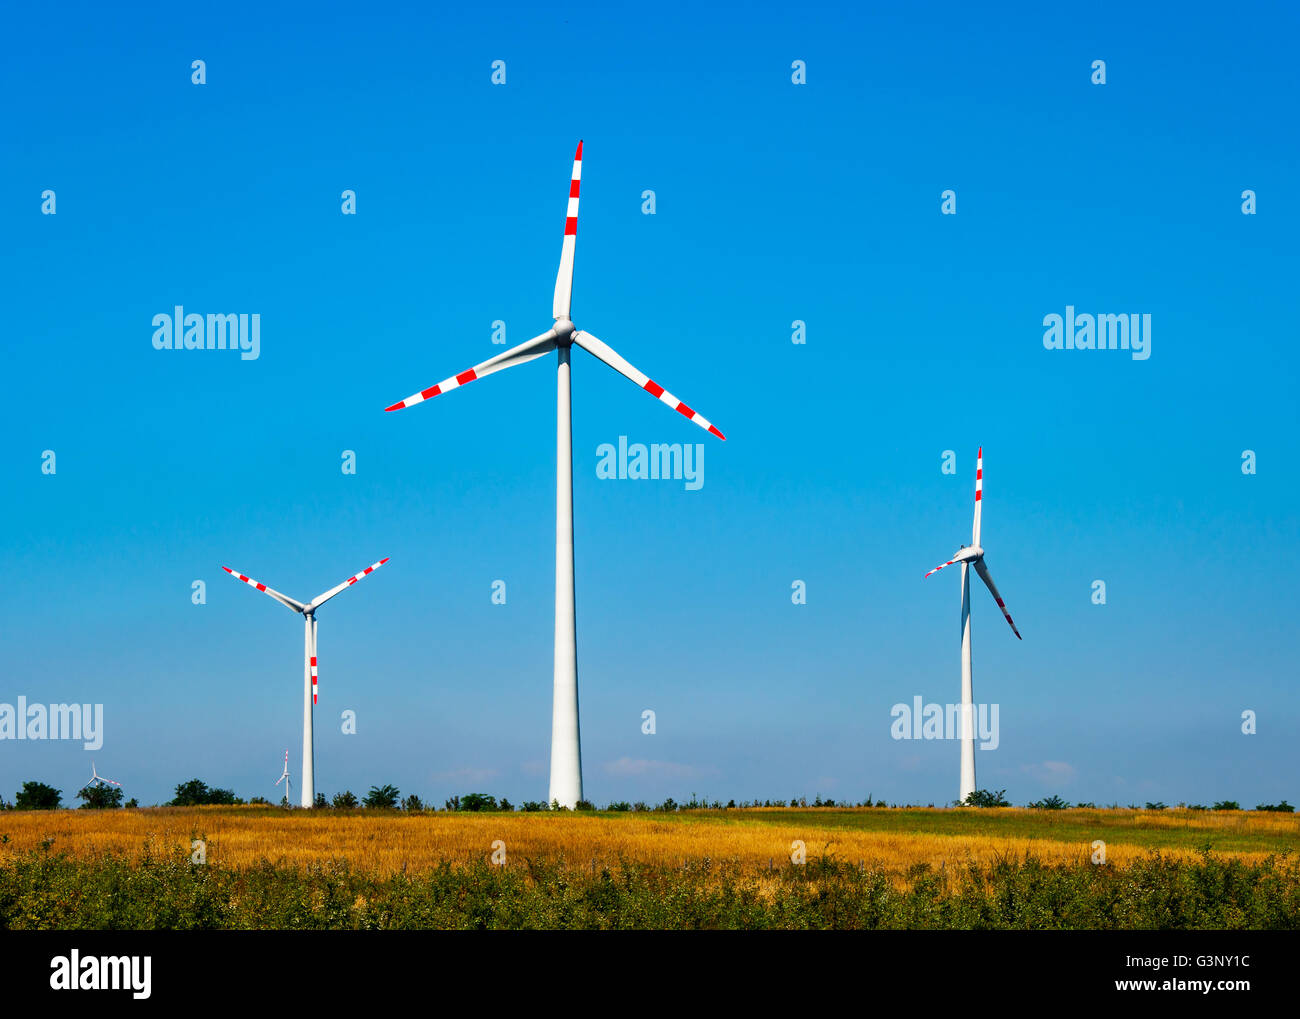
<svg viewBox="0 0 1300 1019"><path fill-rule="evenodd" d="M582 138L573 318L728 437L575 354L589 798L953 799L958 745L894 741L889 712L958 699L958 577L922 574L968 541L983 443L1024 639L974 591L1001 728L980 786L1295 802L1297 27L1252 4L13 12L0 702L103 703L94 756L142 802L192 776L274 795L300 624L220 567L307 599L391 556L320 613L317 788L545 798L552 363L384 407L498 352L495 320L550 325ZM259 313L260 356L153 350L176 304ZM1045 350L1066 305L1149 313L1152 356ZM703 486L599 480L619 435L703 442ZM0 794L70 798L90 758L3 741Z"/></svg>

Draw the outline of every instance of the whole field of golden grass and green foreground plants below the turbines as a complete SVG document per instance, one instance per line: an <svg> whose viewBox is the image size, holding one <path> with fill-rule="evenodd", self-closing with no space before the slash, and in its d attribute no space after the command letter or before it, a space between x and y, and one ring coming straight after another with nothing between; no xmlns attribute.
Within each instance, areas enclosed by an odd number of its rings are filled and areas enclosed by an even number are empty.
<svg viewBox="0 0 1300 1019"><path fill-rule="evenodd" d="M1258 811L6 811L0 927L1295 928L1297 849Z"/></svg>

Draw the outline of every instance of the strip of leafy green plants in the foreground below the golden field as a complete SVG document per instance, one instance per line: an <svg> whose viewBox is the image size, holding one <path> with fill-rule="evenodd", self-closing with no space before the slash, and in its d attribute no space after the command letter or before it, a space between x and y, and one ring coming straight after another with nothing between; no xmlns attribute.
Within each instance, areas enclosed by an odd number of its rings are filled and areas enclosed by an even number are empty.
<svg viewBox="0 0 1300 1019"><path fill-rule="evenodd" d="M1300 864L1160 854L1126 868L1004 859L913 868L906 886L835 860L744 872L699 860L592 871L556 860L447 863L378 877L192 866L183 851L73 860L34 850L0 866L5 929L924 928L1296 929Z"/></svg>

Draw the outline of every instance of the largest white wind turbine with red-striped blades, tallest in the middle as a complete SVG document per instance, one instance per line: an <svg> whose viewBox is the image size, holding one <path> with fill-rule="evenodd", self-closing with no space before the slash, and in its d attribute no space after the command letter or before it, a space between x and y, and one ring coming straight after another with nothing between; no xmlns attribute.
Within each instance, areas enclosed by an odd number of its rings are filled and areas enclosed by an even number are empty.
<svg viewBox="0 0 1300 1019"><path fill-rule="evenodd" d="M555 277L555 299L551 315L555 325L540 337L476 364L467 372L430 386L394 403L387 411L400 411L432 396L450 393L476 378L503 368L525 364L556 351L555 378L555 690L551 711L551 786L550 799L563 807L575 807L582 798L582 754L577 721L577 629L573 603L573 435L569 424L569 352L576 343L588 354L604 361L619 374L656 396L672 409L723 439L722 432L684 404L647 376L633 368L614 350L573 326L569 299L573 292L573 248L577 242L577 192L582 175L582 143L573 155L569 181L568 213L564 220L564 246Z"/></svg>

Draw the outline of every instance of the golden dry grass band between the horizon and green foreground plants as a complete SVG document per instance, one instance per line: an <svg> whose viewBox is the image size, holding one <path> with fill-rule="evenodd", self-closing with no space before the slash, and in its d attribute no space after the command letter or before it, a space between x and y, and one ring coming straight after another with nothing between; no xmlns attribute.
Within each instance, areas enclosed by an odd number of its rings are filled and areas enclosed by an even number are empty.
<svg viewBox="0 0 1300 1019"><path fill-rule="evenodd" d="M936 808L750 808L680 814L448 814L286 811L274 807L6 811L0 863L48 845L55 853L138 858L205 842L207 862L247 868L263 862L306 867L347 860L386 875L488 859L494 842L511 862L546 858L585 866L621 860L680 864L710 859L742 868L780 866L802 842L823 855L904 875L918 863L961 870L1032 854L1079 863L1105 842L1106 862L1124 866L1152 850L1193 858L1202 847L1258 862L1300 850L1300 818L1256 811Z"/></svg>

